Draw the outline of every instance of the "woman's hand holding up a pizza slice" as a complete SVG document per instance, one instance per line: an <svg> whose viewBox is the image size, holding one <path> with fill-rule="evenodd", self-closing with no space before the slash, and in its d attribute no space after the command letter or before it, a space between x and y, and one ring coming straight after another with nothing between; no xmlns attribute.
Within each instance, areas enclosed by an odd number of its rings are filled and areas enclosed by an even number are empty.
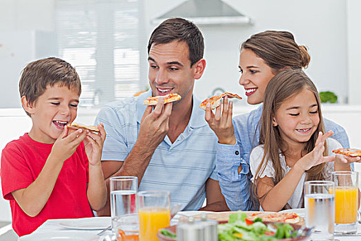
<svg viewBox="0 0 361 241"><path fill-rule="evenodd" d="M221 109L223 105L223 111ZM221 144L234 145L237 143L236 137L234 136L234 127L232 123L232 109L233 103L230 101L228 105L228 97L224 97L223 104L216 108L216 113L210 109L210 103L206 105L206 121L215 132L218 137L218 142Z"/></svg>

